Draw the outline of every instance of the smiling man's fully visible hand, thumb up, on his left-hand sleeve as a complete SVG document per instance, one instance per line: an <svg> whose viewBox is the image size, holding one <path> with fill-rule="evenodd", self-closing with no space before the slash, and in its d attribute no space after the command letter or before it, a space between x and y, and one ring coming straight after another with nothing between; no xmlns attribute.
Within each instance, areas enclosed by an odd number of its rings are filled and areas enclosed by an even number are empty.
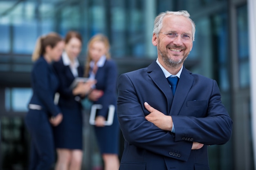
<svg viewBox="0 0 256 170"><path fill-rule="evenodd" d="M147 102L144 103L144 106L150 112L150 114L145 117L148 121L152 122L162 130L172 130L173 119L171 116L164 115L164 113L151 107Z"/></svg>

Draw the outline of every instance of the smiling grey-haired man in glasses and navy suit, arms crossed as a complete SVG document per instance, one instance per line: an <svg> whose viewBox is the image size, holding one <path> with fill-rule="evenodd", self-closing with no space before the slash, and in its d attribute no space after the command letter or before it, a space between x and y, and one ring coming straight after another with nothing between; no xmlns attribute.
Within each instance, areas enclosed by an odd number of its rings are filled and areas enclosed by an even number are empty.
<svg viewBox="0 0 256 170"><path fill-rule="evenodd" d="M152 38L157 60L119 77L117 115L125 139L119 170L209 170L207 147L231 137L217 82L183 65L195 36L189 16L160 13Z"/></svg>

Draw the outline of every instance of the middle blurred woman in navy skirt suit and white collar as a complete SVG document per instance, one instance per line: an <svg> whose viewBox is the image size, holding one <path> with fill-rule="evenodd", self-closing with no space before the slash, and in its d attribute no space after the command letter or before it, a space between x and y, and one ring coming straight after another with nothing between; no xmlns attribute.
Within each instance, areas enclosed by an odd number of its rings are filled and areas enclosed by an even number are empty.
<svg viewBox="0 0 256 170"><path fill-rule="evenodd" d="M71 88L74 79L83 77L84 74L83 66L79 65L77 59L81 47L81 35L75 31L68 32L61 60L53 64L60 81L58 106L63 113L63 121L54 128L58 157L56 170L81 169L83 156L81 99L95 84L95 81L80 82L76 87Z"/></svg>

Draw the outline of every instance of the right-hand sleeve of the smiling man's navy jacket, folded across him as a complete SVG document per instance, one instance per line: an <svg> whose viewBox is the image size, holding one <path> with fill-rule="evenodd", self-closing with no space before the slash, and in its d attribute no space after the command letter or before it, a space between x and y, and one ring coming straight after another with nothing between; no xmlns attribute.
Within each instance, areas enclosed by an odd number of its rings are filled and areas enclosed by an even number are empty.
<svg viewBox="0 0 256 170"><path fill-rule="evenodd" d="M212 80L210 97L204 117L183 116L187 113L180 113L172 116L175 127L175 141L191 139L205 145L225 144L229 141L232 133L232 120L221 102L220 91L215 80ZM198 89L198 95L202 89ZM193 102L193 101L191 101ZM188 103L186 104L188 107ZM192 112L193 106L187 108ZM198 115L199 113L193 113Z"/></svg>

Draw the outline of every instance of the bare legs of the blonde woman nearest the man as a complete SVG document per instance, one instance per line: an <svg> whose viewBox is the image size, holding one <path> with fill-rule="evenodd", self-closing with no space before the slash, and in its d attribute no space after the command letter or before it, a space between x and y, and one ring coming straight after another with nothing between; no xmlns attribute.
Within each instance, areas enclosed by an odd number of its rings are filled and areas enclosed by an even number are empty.
<svg viewBox="0 0 256 170"><path fill-rule="evenodd" d="M104 170L118 170L120 166L117 154L102 154L104 161Z"/></svg>

